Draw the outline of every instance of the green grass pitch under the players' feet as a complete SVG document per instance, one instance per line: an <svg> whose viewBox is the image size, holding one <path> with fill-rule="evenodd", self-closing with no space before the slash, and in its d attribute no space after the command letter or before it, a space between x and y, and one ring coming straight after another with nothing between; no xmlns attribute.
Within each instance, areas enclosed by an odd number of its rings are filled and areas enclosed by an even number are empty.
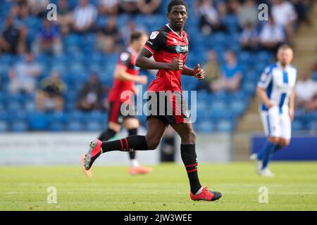
<svg viewBox="0 0 317 225"><path fill-rule="evenodd" d="M317 163L272 162L274 178L256 174L251 162L200 164L201 184L223 193L216 202L189 199L182 165L163 164L148 175L128 167L93 167L87 178L76 166L0 167L0 210L317 210ZM55 186L57 203L47 203ZM259 188L268 203L259 203Z"/></svg>

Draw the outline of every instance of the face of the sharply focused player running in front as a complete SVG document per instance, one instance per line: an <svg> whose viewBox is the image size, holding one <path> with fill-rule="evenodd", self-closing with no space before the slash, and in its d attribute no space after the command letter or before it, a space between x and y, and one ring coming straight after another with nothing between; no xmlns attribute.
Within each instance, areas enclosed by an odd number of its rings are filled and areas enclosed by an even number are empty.
<svg viewBox="0 0 317 225"><path fill-rule="evenodd" d="M181 29L185 26L187 20L187 11L185 6L173 6L170 13L167 13L170 25L176 29Z"/></svg>

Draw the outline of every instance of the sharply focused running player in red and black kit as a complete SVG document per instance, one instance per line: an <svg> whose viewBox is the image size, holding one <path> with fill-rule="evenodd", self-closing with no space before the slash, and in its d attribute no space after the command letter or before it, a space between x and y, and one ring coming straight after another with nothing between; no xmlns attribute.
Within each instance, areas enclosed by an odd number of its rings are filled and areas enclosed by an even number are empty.
<svg viewBox="0 0 317 225"><path fill-rule="evenodd" d="M128 136L118 141L92 141L85 157L85 169L89 169L99 155L108 151L134 152L135 150L156 149L170 125L181 138L180 155L189 179L190 198L214 201L221 198L221 193L209 191L199 182L196 134L192 128L187 106L184 107L186 103L182 98L181 75L197 79L204 79L205 75L204 70L199 68L199 64L194 69L187 68L185 65L189 42L187 33L183 29L187 20L187 12L185 1L170 1L167 13L168 24L151 33L149 40L137 56L136 65L139 67L147 70L159 70L156 79L151 82L147 90L147 108L151 108L151 111L147 112L146 136ZM151 56L154 56L154 60L150 59ZM168 92L173 92L173 94L168 95ZM165 108L166 112L162 113L159 110L161 108Z"/></svg>

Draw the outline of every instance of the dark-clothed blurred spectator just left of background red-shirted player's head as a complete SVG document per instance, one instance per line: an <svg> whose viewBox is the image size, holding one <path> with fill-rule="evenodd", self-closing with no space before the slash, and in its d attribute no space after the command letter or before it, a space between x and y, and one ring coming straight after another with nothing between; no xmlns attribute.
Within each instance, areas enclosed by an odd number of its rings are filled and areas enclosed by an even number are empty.
<svg viewBox="0 0 317 225"><path fill-rule="evenodd" d="M105 27L99 29L97 49L104 53L120 51L120 33L117 28L117 19L115 16L109 18Z"/></svg>

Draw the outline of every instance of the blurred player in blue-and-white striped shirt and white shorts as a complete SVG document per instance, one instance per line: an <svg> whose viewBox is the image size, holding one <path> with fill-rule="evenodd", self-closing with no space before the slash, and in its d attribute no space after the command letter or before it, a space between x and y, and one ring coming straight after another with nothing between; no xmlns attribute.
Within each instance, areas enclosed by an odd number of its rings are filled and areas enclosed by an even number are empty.
<svg viewBox="0 0 317 225"><path fill-rule="evenodd" d="M272 155L288 146L291 139L291 123L294 119L294 86L297 69L291 65L292 48L282 45L277 53L278 62L270 65L261 75L257 94L261 98L261 119L268 136L263 149L250 156L256 161L261 176L274 176L268 169Z"/></svg>

